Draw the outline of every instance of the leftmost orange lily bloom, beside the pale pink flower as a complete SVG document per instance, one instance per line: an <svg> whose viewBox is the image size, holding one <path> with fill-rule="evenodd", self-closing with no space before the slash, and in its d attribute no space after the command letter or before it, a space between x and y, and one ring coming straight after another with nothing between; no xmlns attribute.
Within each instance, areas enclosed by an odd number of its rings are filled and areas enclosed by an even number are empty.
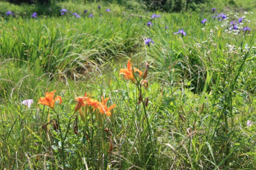
<svg viewBox="0 0 256 170"><path fill-rule="evenodd" d="M56 90L51 91L50 93L46 92L45 98L40 98L38 103L36 104L36 106L38 107L38 104L41 104L41 105L49 106L50 108L53 109L56 101L59 101L59 104L61 104L62 103L61 96L58 95L58 96L56 96L55 99L53 99L55 92L56 92Z"/></svg>

